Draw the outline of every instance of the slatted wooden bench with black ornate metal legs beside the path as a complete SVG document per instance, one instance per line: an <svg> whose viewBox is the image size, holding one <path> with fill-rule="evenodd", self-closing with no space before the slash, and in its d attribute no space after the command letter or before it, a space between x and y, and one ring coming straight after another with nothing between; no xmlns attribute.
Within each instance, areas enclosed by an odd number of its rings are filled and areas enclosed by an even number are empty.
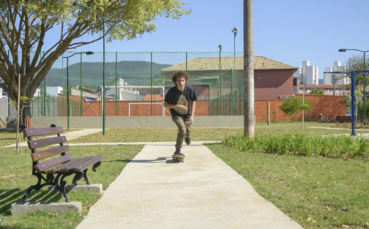
<svg viewBox="0 0 369 229"><path fill-rule="evenodd" d="M74 186L77 185L77 181L82 177L85 179L87 185L90 184L87 179L87 169L92 166L92 171L96 172L96 168L100 166L103 156L96 155L75 158L70 153L66 154L69 151L69 146L63 145L66 142L65 136L60 135L63 133L63 128L56 127L54 124L48 128L27 128L27 126L21 125L20 129L23 130L24 135L28 138L28 147L31 149L32 175L38 178L37 184L31 185L25 191L22 199L23 203L26 202L32 190L38 191L42 187L49 185L53 185L55 190L61 192L65 202L70 202L66 196L66 181L64 181L64 178L72 174L74 174L72 181ZM57 136L32 140L34 136L52 134L56 134ZM50 146L52 145L54 146L51 148ZM42 150L38 151L38 148L41 147ZM43 149L45 147L47 149Z"/></svg>

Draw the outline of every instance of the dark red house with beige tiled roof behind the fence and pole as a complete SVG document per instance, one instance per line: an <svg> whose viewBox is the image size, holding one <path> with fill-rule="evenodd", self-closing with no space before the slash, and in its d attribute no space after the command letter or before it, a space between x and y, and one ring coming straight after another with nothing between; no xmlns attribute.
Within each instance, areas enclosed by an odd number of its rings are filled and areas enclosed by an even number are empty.
<svg viewBox="0 0 369 229"><path fill-rule="evenodd" d="M234 61L235 60L235 61ZM165 79L171 81L173 72L184 70L189 73L189 84L203 87L200 94L217 97L242 91L244 57L197 57L162 69ZM234 70L235 69L235 70ZM254 77L260 77L255 83L255 99L280 98L292 96L296 79L293 73L297 68L264 56L254 56ZM168 82L169 83L169 82ZM166 83L166 84L168 84ZM221 92L220 92L221 88ZM207 90L208 89L208 90ZM296 89L295 89L296 90ZM196 93L198 93L196 91ZM296 92L298 93L298 92Z"/></svg>

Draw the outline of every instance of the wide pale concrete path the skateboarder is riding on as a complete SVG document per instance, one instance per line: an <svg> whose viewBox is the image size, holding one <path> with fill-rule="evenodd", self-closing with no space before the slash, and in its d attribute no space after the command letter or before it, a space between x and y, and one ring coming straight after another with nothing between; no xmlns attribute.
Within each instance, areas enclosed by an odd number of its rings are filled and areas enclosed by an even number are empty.
<svg viewBox="0 0 369 229"><path fill-rule="evenodd" d="M78 229L301 228L202 142L183 146L184 163L175 142L145 144Z"/></svg>

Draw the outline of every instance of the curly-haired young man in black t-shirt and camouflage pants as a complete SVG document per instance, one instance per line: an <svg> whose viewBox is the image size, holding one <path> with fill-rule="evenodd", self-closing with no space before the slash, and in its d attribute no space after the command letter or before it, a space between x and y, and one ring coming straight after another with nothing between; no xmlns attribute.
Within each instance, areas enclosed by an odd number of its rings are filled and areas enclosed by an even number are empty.
<svg viewBox="0 0 369 229"><path fill-rule="evenodd" d="M170 108L173 122L178 126L176 151L173 156L182 156L181 153L183 138L187 145L191 143L191 127L195 112L195 101L197 96L193 88L187 85L189 75L184 71L177 71L172 76L172 81L176 85L168 90L164 98L164 107Z"/></svg>

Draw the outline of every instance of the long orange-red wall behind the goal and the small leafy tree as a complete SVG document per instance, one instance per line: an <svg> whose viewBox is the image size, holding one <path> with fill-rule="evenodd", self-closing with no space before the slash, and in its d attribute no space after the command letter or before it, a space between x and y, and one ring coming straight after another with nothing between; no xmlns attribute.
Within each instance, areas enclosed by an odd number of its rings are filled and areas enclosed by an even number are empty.
<svg viewBox="0 0 369 229"><path fill-rule="evenodd" d="M302 96L302 95L296 95ZM306 112L306 121L316 121L319 114L323 114L325 117L334 118L337 115L345 115L345 104L340 104L341 98L344 96L322 96L322 95L306 95L306 98L310 100L313 105L312 112ZM80 101L79 96L69 96L71 103L73 100ZM59 116L62 116L62 97L59 96ZM284 116L284 113L279 110L279 106L282 104L283 99L256 99L255 100L255 115L256 121L265 122L267 119L267 102L270 102L270 121L291 121L290 117ZM138 103L148 103L149 101L138 101ZM161 101L158 101L161 102ZM74 103L74 102L73 102ZM117 109L115 101L106 101L106 116L128 116L129 103L136 103L136 101L118 101ZM65 116L66 114L66 106ZM239 104L237 103L237 109ZM243 104L241 104L243 108ZM213 109L213 108L211 108ZM76 110L75 108L73 109ZM226 109L227 110L227 109ZM275 113L273 114L273 111ZM223 112L223 114L228 114L228 112ZM242 114L242 112L241 112ZM75 116L76 114L72 114ZM151 116L151 104L131 104L130 107L131 116ZM152 115L161 116L162 115L162 105L152 104ZM209 101L208 100L197 100L195 116L207 116L209 115ZM239 112L238 114L239 115ZM100 101L83 101L83 116L102 116L102 103ZM170 116L169 110L165 111L165 116ZM298 114L295 121L302 120L302 114Z"/></svg>

